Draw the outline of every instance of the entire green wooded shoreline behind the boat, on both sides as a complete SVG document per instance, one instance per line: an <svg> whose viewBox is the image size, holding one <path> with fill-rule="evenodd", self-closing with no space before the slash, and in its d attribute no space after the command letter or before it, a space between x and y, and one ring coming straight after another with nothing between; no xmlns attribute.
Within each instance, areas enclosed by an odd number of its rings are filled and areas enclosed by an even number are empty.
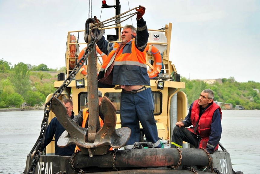
<svg viewBox="0 0 260 174"><path fill-rule="evenodd" d="M48 68L45 64L38 66L18 63L11 66L11 63L1 59L2 73L0 73L0 108L20 107L26 102L34 107L45 103L47 95L54 93L54 80L46 71L58 71L65 73L65 67L57 69ZM33 72L39 71L39 72ZM58 74L57 73L57 74ZM236 82L234 77L223 78L222 83L206 84L201 80L188 80L181 77L180 81L185 82L184 91L190 105L198 99L200 92L210 88L214 91L215 101L232 103L233 107L242 105L245 109L260 109L260 83L248 81L246 83Z"/></svg>

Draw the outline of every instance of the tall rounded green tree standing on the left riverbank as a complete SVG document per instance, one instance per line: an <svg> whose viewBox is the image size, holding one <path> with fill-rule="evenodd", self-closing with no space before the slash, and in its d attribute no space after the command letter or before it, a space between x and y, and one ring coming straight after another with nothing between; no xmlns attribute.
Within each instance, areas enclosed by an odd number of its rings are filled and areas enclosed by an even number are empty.
<svg viewBox="0 0 260 174"><path fill-rule="evenodd" d="M11 83L18 94L22 97L30 90L30 71L24 63L18 63L14 67L14 72L9 76Z"/></svg>

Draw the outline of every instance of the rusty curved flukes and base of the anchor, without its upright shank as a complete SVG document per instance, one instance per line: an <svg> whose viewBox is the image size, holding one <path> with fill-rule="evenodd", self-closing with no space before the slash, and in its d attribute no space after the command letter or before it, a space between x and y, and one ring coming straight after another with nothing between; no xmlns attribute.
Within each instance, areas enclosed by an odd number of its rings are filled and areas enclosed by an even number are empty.
<svg viewBox="0 0 260 174"><path fill-rule="evenodd" d="M93 143L87 141L88 129L77 125L70 119L67 115L67 109L57 97L52 99L51 109L66 130L57 141L59 147L76 144L83 154L89 154L92 157L108 153L110 146L115 149L124 146L130 137L131 130L128 127L115 130L116 108L105 96L100 105L101 112L104 114L104 125L96 133Z"/></svg>

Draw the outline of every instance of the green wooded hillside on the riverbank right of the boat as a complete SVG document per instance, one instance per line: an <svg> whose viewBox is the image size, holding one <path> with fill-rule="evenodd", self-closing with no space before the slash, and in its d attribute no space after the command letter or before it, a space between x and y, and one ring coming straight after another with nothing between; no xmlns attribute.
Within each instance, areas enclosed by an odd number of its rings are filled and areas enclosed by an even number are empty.
<svg viewBox="0 0 260 174"><path fill-rule="evenodd" d="M260 83L258 82L249 80L239 83L234 77L223 78L222 84L218 82L206 84L204 81L188 80L185 77L182 77L181 81L185 82L185 89L181 90L187 95L189 105L199 98L202 90L209 88L215 94L214 101L231 103L233 108L242 105L247 110L260 109Z"/></svg>

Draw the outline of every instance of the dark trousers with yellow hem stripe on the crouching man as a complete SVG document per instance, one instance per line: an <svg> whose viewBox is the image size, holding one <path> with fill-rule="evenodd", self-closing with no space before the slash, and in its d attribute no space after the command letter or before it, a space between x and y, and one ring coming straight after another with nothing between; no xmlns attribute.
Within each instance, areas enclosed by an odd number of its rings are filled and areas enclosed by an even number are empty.
<svg viewBox="0 0 260 174"><path fill-rule="evenodd" d="M191 133L188 129L175 126L173 128L173 134L171 138L171 147L182 147L182 141L185 141L195 146L195 148L198 148L200 140L200 138L197 138L197 135Z"/></svg>

